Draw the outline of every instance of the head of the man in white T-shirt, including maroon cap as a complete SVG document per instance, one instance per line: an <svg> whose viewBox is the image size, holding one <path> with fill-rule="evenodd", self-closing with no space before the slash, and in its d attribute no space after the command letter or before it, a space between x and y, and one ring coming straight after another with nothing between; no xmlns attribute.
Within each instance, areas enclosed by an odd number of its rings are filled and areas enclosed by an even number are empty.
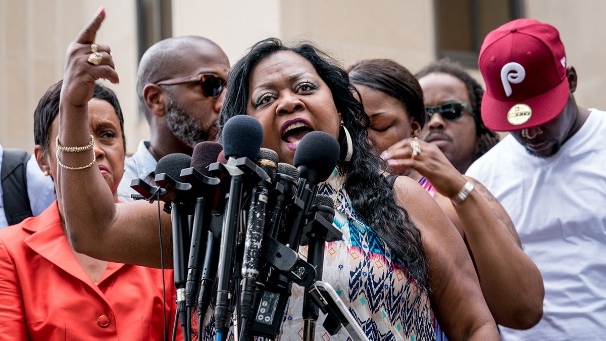
<svg viewBox="0 0 606 341"><path fill-rule="evenodd" d="M488 33L478 64L486 82L484 124L511 132L531 154L556 154L587 119L587 110L574 102L576 71L567 67L555 27L530 19L508 22Z"/></svg>

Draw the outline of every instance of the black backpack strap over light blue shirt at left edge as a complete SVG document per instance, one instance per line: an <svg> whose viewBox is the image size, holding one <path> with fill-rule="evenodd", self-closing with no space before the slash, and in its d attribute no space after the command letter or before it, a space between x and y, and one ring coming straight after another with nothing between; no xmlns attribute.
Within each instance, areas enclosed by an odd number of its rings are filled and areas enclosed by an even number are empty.
<svg viewBox="0 0 606 341"><path fill-rule="evenodd" d="M21 223L33 215L27 195L26 168L29 158L30 155L25 150L4 149L0 174L4 193L4 214L8 225Z"/></svg>

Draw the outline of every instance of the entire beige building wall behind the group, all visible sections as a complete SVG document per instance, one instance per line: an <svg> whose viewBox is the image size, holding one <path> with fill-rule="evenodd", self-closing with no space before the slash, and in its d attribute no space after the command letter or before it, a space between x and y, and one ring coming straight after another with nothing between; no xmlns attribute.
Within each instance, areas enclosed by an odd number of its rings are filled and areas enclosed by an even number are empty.
<svg viewBox="0 0 606 341"><path fill-rule="evenodd" d="M33 151L33 110L62 78L65 50L99 5L106 19L97 42L112 47L121 83L110 84L125 115L128 152L148 136L135 93L134 0L0 0L0 143ZM435 59L432 0L173 0L173 35L201 35L221 46L233 64L260 39L302 39L331 52L343 66L392 58L415 72ZM606 29L603 0L526 0L524 14L558 27L576 67L576 99L606 109ZM453 27L456 29L456 27ZM477 70L471 72L480 78Z"/></svg>

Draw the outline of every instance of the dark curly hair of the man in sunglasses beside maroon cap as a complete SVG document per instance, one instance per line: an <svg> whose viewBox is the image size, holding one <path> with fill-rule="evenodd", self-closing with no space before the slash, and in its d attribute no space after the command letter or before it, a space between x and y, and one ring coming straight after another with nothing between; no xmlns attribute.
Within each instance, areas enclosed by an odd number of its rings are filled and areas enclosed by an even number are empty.
<svg viewBox="0 0 606 341"><path fill-rule="evenodd" d="M482 122L482 95L484 95L484 89L458 62L452 61L450 58L439 59L438 61L431 62L428 66L425 66L421 71L415 74L417 79L421 79L430 73L446 73L455 78L460 79L467 88L469 100L471 101L471 110L473 110L473 118L476 121L476 149L474 151L473 161L478 160L479 157L484 155L491 149L495 144L499 142L499 135L492 130L488 129L484 122Z"/></svg>

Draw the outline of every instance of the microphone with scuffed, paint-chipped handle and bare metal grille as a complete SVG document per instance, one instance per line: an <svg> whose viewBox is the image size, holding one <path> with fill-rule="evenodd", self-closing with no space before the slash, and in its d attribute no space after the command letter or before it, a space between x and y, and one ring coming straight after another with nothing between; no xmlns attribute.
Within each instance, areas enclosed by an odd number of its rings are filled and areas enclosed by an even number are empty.
<svg viewBox="0 0 606 341"><path fill-rule="evenodd" d="M247 340L248 331L250 331L248 317L253 308L256 282L259 277L259 257L265 232L265 208L268 201L269 187L276 177L278 169L278 153L271 149L261 148L255 163L265 170L265 173L270 177L270 181L259 180L250 195L244 255L242 256L242 291L239 309L241 319L239 339L242 341Z"/></svg>

